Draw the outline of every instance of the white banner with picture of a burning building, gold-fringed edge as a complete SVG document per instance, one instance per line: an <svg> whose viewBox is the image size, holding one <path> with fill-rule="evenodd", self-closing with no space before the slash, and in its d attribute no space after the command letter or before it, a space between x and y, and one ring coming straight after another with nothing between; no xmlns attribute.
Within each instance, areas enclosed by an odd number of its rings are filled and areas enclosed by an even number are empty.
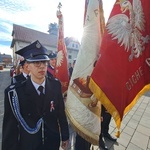
<svg viewBox="0 0 150 150"><path fill-rule="evenodd" d="M93 106L95 97L88 83L99 56L102 28L104 28L102 25L105 23L102 1L86 0L85 2L83 37L69 83L66 112L75 131L90 143L98 145L101 130L101 105L98 102Z"/></svg>

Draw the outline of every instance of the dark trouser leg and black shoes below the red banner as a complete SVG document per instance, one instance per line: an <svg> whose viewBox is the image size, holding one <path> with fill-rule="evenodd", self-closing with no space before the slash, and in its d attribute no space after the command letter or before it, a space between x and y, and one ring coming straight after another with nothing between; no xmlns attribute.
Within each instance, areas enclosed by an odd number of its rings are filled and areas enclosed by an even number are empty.
<svg viewBox="0 0 150 150"><path fill-rule="evenodd" d="M104 150L108 150L108 147L105 145L103 138L108 139L112 142L116 142L117 138L112 137L109 134L109 125L111 121L111 114L105 109L103 105L101 105L101 134L99 137L99 146L102 147Z"/></svg>

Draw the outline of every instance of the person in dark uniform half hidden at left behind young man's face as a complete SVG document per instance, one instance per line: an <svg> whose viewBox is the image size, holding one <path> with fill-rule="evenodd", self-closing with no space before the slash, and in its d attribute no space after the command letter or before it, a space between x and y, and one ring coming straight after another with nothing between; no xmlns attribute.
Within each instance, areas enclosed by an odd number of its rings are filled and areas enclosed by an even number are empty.
<svg viewBox="0 0 150 150"><path fill-rule="evenodd" d="M20 51L17 51L16 54L20 55ZM17 67L18 72L16 71L16 75L11 78L11 84L14 84L16 82L25 81L29 77L29 70L28 70L28 63L24 59L23 61L20 61L19 66L22 68L20 72L20 68Z"/></svg>

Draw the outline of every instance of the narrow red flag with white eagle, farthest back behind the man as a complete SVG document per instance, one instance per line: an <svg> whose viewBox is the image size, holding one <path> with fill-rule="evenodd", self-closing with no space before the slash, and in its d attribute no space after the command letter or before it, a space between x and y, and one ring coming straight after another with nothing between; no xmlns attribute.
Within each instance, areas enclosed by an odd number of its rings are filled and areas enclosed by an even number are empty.
<svg viewBox="0 0 150 150"><path fill-rule="evenodd" d="M58 53L57 53L57 65L55 68L55 77L61 81L62 92L66 92L69 84L69 72L68 72L68 58L67 49L64 41L64 22L63 15L60 9L57 11L58 18Z"/></svg>

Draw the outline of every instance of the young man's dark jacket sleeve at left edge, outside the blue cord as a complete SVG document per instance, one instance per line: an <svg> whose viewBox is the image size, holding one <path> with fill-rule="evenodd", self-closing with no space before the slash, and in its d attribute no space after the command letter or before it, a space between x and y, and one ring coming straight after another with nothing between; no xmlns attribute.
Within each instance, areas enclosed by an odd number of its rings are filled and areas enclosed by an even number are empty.
<svg viewBox="0 0 150 150"><path fill-rule="evenodd" d="M8 91L5 90L2 150L18 150L18 133L18 122L9 103Z"/></svg>

